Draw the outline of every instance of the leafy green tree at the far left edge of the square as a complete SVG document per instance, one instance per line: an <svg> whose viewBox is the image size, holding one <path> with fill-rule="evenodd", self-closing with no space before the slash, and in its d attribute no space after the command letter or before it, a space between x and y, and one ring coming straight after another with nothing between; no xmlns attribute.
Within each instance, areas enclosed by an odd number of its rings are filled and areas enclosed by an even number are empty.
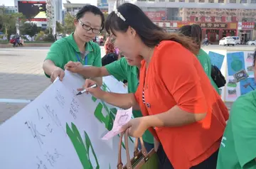
<svg viewBox="0 0 256 169"><path fill-rule="evenodd" d="M22 18L19 20L19 18ZM16 33L16 24L20 24L23 21L22 13L6 13L4 7L0 8L0 31L5 32L7 38L11 36L11 33Z"/></svg>

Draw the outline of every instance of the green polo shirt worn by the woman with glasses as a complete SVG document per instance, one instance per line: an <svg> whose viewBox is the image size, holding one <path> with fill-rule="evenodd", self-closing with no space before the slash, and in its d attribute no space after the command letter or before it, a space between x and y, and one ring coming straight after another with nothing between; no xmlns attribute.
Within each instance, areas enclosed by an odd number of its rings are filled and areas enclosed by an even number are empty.
<svg viewBox="0 0 256 169"><path fill-rule="evenodd" d="M50 46L46 60L51 60L57 67L64 70L64 66L69 61L81 62L82 65L92 65L102 67L100 46L97 43L87 42L85 45L85 58L80 57L80 50L72 33L70 36L55 41ZM49 77L48 75L46 75Z"/></svg>

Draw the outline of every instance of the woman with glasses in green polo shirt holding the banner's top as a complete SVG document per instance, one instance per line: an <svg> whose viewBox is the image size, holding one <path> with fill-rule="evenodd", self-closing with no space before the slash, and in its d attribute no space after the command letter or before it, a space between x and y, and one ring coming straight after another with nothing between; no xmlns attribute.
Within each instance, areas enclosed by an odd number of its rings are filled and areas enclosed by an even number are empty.
<svg viewBox="0 0 256 169"><path fill-rule="evenodd" d="M43 62L43 70L53 82L56 77L63 80L64 65L70 60L82 65L101 67L100 46L91 40L104 28L105 18L96 6L86 5L75 16L75 32L66 38L57 40ZM96 82L102 85L102 77Z"/></svg>

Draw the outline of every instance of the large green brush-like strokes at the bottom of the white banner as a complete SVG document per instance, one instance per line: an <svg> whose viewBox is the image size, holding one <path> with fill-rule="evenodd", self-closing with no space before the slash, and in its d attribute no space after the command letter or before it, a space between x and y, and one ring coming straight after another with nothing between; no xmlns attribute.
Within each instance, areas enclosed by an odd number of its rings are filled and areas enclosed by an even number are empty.
<svg viewBox="0 0 256 169"><path fill-rule="evenodd" d="M92 143L91 143L90 138L87 135L87 133L84 131L85 132L85 143L84 143L82 141L82 137L81 137L77 127L75 126L75 124L71 123L71 128L72 129L70 129L70 126L68 126L68 124L66 124L67 134L73 143L75 151L78 153L78 158L80 159L80 162L82 163L82 167L84 169L92 169L93 168L92 163L90 161L90 153L89 153L90 148L91 148L92 154L97 163L96 168L100 168L100 165L97 160L97 156L95 154L95 151L92 148Z"/></svg>

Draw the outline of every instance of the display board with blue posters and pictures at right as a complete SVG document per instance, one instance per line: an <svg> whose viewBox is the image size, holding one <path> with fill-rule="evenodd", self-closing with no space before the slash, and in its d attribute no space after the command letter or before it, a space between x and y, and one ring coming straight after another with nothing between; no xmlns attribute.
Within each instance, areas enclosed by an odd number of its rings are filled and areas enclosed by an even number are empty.
<svg viewBox="0 0 256 169"><path fill-rule="evenodd" d="M225 87L221 87L221 98L225 102L235 102L242 94L252 91L250 84L256 89L253 75L253 50L205 50L213 65L216 65L225 76ZM222 64L221 64L222 62ZM215 64L214 64L215 63ZM221 66L220 66L221 65ZM233 75L240 70L245 70L249 77L236 82Z"/></svg>

